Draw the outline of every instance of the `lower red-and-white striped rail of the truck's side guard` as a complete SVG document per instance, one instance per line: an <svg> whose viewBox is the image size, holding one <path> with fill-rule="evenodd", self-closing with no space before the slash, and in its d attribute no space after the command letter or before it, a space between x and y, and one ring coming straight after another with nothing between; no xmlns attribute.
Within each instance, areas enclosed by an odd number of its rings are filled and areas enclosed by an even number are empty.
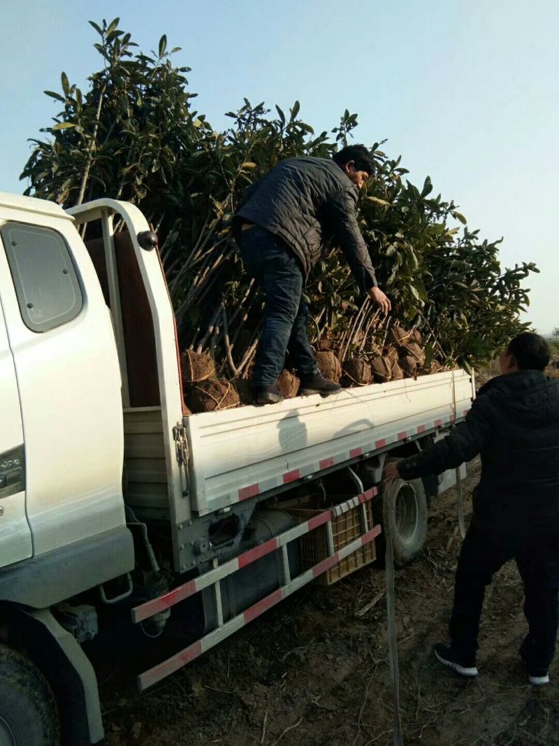
<svg viewBox="0 0 559 746"><path fill-rule="evenodd" d="M226 639L234 632L241 629L241 627L244 627L245 624L248 624L265 611L268 611L268 609L279 604L279 601L283 601L284 598L287 598L295 591L298 591L300 588L305 586L306 583L310 583L310 581L314 580L315 577L326 572L326 570L329 570L333 565L344 560L348 555L353 554L353 552L357 551L360 547L372 542L376 536L379 536L379 533L380 526L373 527L372 530L367 531L363 536L359 536L358 539L355 539L346 547L339 549L332 555L332 557L326 557L326 560L321 560L317 565L301 573L294 578L294 580L287 583L287 585L278 588L270 595L262 598L261 601L257 601L253 606L249 606L246 611L233 617L230 621L227 621L223 627L218 627L216 630L212 630L212 632L208 633L200 640L197 640L197 642L194 642L192 645L189 645L188 648L180 651L180 653L171 656L171 658L155 665L153 668L145 671L145 673L140 674L137 678L139 691L142 692L144 689L148 689L149 686L153 686L169 674L178 671L179 668L183 668L183 665L198 658L201 653L205 653L209 648L213 648L213 646L217 645L218 642Z"/></svg>

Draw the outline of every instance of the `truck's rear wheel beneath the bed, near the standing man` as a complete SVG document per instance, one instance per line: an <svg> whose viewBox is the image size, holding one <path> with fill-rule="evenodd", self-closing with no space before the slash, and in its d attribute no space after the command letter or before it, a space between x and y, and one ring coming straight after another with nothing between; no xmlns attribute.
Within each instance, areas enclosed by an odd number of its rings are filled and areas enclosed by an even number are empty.
<svg viewBox="0 0 559 746"><path fill-rule="evenodd" d="M399 459L388 459L397 461ZM373 498L373 519L392 536L394 565L404 567L420 553L427 535L427 499L423 480L402 479L385 484ZM376 539L380 562L384 562L386 542L381 533Z"/></svg>

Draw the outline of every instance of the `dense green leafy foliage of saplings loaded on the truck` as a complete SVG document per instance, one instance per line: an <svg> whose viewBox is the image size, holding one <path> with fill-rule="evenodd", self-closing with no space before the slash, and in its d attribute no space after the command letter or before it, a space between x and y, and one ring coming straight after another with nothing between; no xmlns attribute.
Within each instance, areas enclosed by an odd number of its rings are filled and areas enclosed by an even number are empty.
<svg viewBox="0 0 559 746"><path fill-rule="evenodd" d="M193 108L189 68L171 62L178 48L144 54L119 19L90 22L102 68L81 91L65 73L60 93L46 91L60 111L34 140L22 172L25 193L70 207L101 196L137 204L160 236L162 263L184 347L208 348L221 372L246 372L253 356L262 297L242 272L230 222L247 184L290 156L329 157L347 144L357 115L315 134L288 112L244 99L215 131ZM443 362L485 363L515 333L528 305L522 287L533 263L502 269L499 241L479 238L453 201L434 196L429 177L417 187L400 158L372 145L377 172L361 198L359 220L393 301L393 317L420 327L428 353ZM463 224L459 230L456 222ZM359 292L335 248L323 253L306 289L312 341L335 339L344 355L364 350L363 332L382 334L376 310Z"/></svg>

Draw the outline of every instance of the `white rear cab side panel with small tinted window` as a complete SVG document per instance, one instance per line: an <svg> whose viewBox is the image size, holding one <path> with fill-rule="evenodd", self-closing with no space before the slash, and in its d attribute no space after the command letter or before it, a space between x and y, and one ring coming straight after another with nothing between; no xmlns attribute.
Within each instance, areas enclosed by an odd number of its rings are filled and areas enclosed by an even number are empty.
<svg viewBox="0 0 559 746"><path fill-rule="evenodd" d="M125 524L121 381L110 313L72 219L39 200L13 203L0 225L0 296L38 557Z"/></svg>

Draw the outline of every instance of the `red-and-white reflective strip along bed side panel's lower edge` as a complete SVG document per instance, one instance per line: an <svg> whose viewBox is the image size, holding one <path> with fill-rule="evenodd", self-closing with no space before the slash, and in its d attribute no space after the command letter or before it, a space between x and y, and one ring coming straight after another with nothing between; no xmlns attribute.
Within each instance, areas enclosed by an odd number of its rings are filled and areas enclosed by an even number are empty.
<svg viewBox="0 0 559 746"><path fill-rule="evenodd" d="M386 436L385 438L379 438L375 441L373 450L386 448L392 443L401 442L413 436L420 435L421 433L426 433L429 430L436 430L438 429L438 427L442 427L443 424L449 424L455 422L456 419L459 419L459 417L465 417L469 411L470 410L464 410L461 416L450 414L445 416L444 418L439 418L433 421L426 422L424 424L419 424L415 427L414 430L400 430L399 433L393 433ZM236 499L233 498L233 500L230 501L230 504L254 498L257 495L262 495L264 492L268 492L268 490L270 489L277 489L277 487L279 486L295 482L297 480L303 479L303 477L310 477L313 474L317 474L318 471L323 471L323 469L326 468L332 468L336 464L345 463L347 461L359 458L364 454L367 454L367 447L363 448L362 446L359 446L357 448L351 448L350 451L347 451L346 454L340 454L337 457L330 456L320 459L318 464L310 463L304 467L291 469L291 471L284 471L277 477L272 477L271 479L265 480L265 482L249 484L247 486L241 487L241 489L238 490Z"/></svg>

